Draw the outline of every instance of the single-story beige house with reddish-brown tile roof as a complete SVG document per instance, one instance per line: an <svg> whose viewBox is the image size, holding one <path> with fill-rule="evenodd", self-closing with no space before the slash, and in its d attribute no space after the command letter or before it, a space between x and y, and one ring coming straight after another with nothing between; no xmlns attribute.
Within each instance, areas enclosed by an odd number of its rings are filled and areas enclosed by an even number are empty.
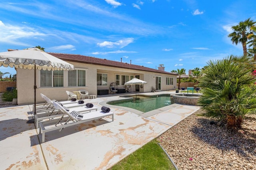
<svg viewBox="0 0 256 170"><path fill-rule="evenodd" d="M132 78L147 82L144 86L131 86L131 92L151 92L174 90L177 74L163 69L152 69L144 66L123 63L122 59L110 61L76 54L49 53L70 64L75 70L36 70L36 101L44 102L40 93L50 99L66 100L70 92L87 90L89 95L99 94L99 90L110 92L110 84L116 82L118 88L125 88L124 83ZM162 68L162 67L161 67ZM17 68L18 104L34 102L34 70Z"/></svg>

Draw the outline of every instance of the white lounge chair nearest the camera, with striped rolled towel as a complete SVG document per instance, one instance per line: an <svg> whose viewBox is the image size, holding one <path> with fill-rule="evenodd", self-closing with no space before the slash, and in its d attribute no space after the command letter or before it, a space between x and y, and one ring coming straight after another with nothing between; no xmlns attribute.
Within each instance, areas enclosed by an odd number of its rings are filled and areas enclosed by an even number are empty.
<svg viewBox="0 0 256 170"><path fill-rule="evenodd" d="M79 112L72 113L66 111L60 104L53 102L53 105L56 109L62 111L64 114L59 119L53 119L50 121L44 121L39 123L39 134L42 133L42 143L45 140L45 133L59 130L61 131L65 127L77 125L79 123L85 123L87 121L100 119L106 116L112 116L112 121L114 121L114 113L108 112L104 113L103 111L94 111L90 113L81 114ZM55 123L55 125L53 125Z"/></svg>

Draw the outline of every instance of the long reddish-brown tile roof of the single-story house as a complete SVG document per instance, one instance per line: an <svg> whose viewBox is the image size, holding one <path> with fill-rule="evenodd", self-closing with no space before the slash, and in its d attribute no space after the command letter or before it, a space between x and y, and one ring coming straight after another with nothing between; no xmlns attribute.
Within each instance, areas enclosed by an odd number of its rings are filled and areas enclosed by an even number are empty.
<svg viewBox="0 0 256 170"><path fill-rule="evenodd" d="M132 70L142 70L142 71L149 71L149 72L158 72L158 73L164 73L164 74L178 75L176 73L166 72L166 71L162 71L162 70L156 70L156 69L148 68L148 67L144 67L144 66L128 64L128 63L121 63L118 61L111 61L111 60L107 60L107 59L99 59L99 58L95 58L95 57L88 57L88 56L84 56L84 55L49 53L49 52L47 52L47 53L50 55L53 55L54 57L57 57L59 59L63 59L64 61L72 61L72 62L76 62L76 63L112 66L112 67L127 68L127 69L132 69Z"/></svg>

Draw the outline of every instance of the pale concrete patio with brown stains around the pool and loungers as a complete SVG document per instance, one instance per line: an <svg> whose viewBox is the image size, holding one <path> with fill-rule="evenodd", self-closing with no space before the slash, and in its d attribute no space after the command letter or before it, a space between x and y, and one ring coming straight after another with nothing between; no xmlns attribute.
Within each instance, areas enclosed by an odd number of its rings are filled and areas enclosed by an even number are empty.
<svg viewBox="0 0 256 170"><path fill-rule="evenodd" d="M144 93L148 95L175 92ZM126 94L127 95L127 94ZM119 95L86 99L100 108ZM141 113L122 107L110 107L111 117L46 133L45 143L35 125L27 124L32 105L0 108L1 169L26 170L106 170L160 136L199 109L198 106L172 104Z"/></svg>

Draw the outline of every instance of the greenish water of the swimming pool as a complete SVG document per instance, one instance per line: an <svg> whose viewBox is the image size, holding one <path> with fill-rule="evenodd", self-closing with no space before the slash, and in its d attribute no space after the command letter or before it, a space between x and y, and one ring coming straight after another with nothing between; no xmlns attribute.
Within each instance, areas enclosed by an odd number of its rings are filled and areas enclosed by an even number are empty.
<svg viewBox="0 0 256 170"><path fill-rule="evenodd" d="M171 104L170 96L144 97L137 95L137 99L138 98L140 99L135 100L134 98L131 100L114 101L109 102L108 104L114 106L130 107L142 112L148 112Z"/></svg>

